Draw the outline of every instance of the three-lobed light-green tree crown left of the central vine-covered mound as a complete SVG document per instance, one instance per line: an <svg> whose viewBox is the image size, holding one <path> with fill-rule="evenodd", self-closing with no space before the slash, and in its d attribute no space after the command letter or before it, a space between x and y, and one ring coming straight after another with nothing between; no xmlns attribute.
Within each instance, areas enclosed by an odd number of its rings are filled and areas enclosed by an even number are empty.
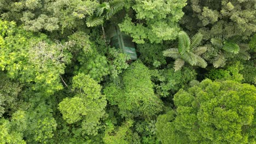
<svg viewBox="0 0 256 144"><path fill-rule="evenodd" d="M73 77L73 91L75 97L65 98L59 104L63 119L70 124L82 121L82 130L88 135L96 135L107 105L101 86L89 75L79 73Z"/></svg>

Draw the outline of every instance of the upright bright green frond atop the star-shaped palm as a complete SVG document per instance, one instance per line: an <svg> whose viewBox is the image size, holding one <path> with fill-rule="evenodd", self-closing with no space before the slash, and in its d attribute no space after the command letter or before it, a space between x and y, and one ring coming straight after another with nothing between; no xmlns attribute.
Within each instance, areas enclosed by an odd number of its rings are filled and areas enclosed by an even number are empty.
<svg viewBox="0 0 256 144"><path fill-rule="evenodd" d="M181 55L183 55L185 52L189 51L190 46L190 39L187 33L184 31L179 32L178 34L179 44L178 44L178 50Z"/></svg>

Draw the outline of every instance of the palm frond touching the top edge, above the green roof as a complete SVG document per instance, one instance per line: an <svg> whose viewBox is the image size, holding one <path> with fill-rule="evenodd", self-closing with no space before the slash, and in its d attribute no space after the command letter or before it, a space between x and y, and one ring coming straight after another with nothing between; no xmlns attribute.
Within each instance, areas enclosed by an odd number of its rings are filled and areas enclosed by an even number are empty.
<svg viewBox="0 0 256 144"><path fill-rule="evenodd" d="M125 2L124 0L113 0L109 1L110 9L107 11L106 15L104 17L108 20L113 15L117 14L117 12L121 9L123 9Z"/></svg>

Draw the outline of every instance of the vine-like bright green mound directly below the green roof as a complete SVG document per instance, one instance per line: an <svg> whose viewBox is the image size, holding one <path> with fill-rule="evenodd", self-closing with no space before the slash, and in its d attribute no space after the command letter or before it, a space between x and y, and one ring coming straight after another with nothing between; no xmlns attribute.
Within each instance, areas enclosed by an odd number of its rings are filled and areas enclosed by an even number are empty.
<svg viewBox="0 0 256 144"><path fill-rule="evenodd" d="M104 88L111 105L118 105L123 117L150 118L161 111L161 100L156 97L150 80L150 71L141 62L127 68L120 83Z"/></svg>

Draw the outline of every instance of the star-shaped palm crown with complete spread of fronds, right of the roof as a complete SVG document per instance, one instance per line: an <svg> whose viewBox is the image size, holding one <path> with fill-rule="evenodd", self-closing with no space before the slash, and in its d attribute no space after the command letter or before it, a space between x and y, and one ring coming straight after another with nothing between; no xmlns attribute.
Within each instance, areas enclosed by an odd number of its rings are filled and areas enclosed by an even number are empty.
<svg viewBox="0 0 256 144"><path fill-rule="evenodd" d="M201 58L202 53L207 50L206 46L199 46L202 41L202 34L197 33L190 40L189 36L185 32L179 32L178 34L178 48L171 48L165 50L164 56L172 57L175 59L174 70L180 70L185 62L190 65L197 65L201 68L205 68L207 63Z"/></svg>

